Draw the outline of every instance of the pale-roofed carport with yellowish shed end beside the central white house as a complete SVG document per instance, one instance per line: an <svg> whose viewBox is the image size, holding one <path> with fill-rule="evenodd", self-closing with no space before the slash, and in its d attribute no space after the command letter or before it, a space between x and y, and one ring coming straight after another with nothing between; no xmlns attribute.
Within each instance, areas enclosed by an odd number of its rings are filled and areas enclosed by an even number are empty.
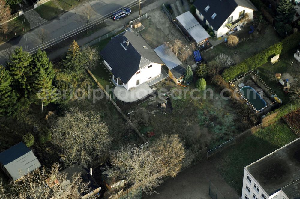
<svg viewBox="0 0 300 199"><path fill-rule="evenodd" d="M185 68L176 55L163 44L154 49L156 54L168 67L168 74L176 84L180 84L183 80Z"/></svg>

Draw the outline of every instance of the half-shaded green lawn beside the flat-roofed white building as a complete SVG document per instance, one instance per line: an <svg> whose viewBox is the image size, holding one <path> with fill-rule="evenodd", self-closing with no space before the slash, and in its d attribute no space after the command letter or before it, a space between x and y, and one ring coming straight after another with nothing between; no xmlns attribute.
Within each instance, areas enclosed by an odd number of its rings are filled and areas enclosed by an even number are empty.
<svg viewBox="0 0 300 199"><path fill-rule="evenodd" d="M241 195L244 167L295 139L297 136L279 120L217 154L212 161L226 182Z"/></svg>

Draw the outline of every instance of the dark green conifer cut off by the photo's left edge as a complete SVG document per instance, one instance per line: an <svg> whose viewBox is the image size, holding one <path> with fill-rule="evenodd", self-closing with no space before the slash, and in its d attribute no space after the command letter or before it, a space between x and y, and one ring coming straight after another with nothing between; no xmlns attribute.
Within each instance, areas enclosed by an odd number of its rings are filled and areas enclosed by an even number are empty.
<svg viewBox="0 0 300 199"><path fill-rule="evenodd" d="M16 113L16 94L10 83L9 72L0 65L0 116L13 116Z"/></svg>

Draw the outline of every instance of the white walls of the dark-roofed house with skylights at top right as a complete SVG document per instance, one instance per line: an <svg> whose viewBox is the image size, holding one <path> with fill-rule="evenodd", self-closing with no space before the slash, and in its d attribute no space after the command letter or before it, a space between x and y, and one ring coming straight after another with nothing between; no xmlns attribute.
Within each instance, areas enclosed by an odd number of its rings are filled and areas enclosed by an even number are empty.
<svg viewBox="0 0 300 199"><path fill-rule="evenodd" d="M249 20L253 19L253 10L242 7L242 6L238 6L234 10L234 12L229 16L229 17L233 16L232 22L234 22L235 20L237 20L239 18L239 13L243 10L245 10L245 14L246 13L248 14ZM202 20L202 21L204 20L204 16L197 9L196 9L196 15L199 17L200 20ZM226 27L226 23L227 23L227 19L224 21L223 25L218 30L214 31L214 33L216 34L216 37L221 37L222 35L225 35L229 31L229 29ZM207 20L206 20L206 24L213 29L213 27L209 24L209 22Z"/></svg>

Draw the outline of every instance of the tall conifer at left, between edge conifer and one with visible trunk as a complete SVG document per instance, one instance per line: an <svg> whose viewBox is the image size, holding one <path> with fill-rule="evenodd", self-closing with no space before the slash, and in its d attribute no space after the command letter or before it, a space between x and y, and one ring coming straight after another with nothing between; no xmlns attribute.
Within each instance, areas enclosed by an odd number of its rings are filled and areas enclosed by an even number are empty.
<svg viewBox="0 0 300 199"><path fill-rule="evenodd" d="M27 79L32 75L32 68L29 64L31 60L31 55L20 47L14 49L8 62L12 85L21 97L27 97L30 91L30 84Z"/></svg>

